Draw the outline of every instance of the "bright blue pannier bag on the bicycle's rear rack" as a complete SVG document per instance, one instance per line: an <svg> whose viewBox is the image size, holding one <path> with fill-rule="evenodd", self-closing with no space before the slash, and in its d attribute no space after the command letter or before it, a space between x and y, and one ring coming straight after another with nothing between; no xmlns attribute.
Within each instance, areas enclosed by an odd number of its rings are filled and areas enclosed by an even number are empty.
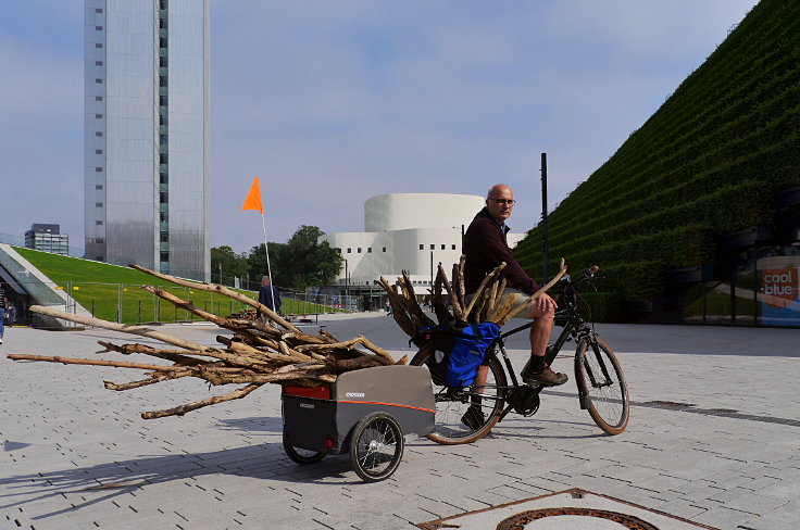
<svg viewBox="0 0 800 530"><path fill-rule="evenodd" d="M478 366L500 335L500 327L495 323L460 324L423 328L420 332L430 335L434 352L427 365L434 382L468 387L475 382Z"/></svg>

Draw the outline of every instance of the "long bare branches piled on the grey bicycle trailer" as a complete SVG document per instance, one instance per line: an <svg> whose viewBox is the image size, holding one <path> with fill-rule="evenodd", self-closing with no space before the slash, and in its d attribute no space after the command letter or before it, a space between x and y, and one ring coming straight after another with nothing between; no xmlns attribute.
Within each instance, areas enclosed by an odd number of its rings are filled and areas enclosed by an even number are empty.
<svg viewBox="0 0 800 530"><path fill-rule="evenodd" d="M126 333L155 339L178 349L161 349L147 344L114 344L99 341L103 350L98 353L118 352L124 355L143 354L150 357L168 361L170 364L128 363L111 359L68 358L61 356L43 356L27 354L11 354L14 361L45 361L62 364L80 364L96 366L114 366L146 370L145 379L116 383L104 381L110 390L130 390L184 377L197 377L211 384L245 384L243 387L222 395L215 395L193 403L166 408L162 411L143 412L145 419L164 416L183 416L184 414L208 405L245 398L264 383L292 384L315 387L327 384L336 380L336 376L349 370L405 364L407 357L395 361L385 350L370 342L364 336L358 336L349 341L339 341L325 330L318 335L308 335L280 315L259 302L223 286L196 283L182 280L168 275L155 273L143 267L132 267L151 274L173 283L192 289L213 291L229 296L254 307L263 314L265 321L251 318L237 318L232 315L220 317L196 307L190 301L182 300L173 294L152 286L142 286L146 291L171 302L201 318L214 323L221 328L232 330L233 337L217 336L216 340L224 348L209 346L178 337L155 331L143 326L129 326L110 323L99 318L85 317L64 313L45 306L32 306L30 311L49 315L64 320L75 321L85 326L111 329ZM357 349L363 346L366 351Z"/></svg>

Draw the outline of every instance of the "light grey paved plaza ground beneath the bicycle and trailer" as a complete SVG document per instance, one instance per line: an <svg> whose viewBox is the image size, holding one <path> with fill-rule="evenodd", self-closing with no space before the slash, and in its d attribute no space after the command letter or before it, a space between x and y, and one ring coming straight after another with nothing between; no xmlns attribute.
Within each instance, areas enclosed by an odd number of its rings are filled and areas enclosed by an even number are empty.
<svg viewBox="0 0 800 530"><path fill-rule="evenodd" d="M318 324L342 339L363 333L397 356L413 353L385 314ZM208 344L225 335L211 326L160 329ZM571 381L542 394L535 416L512 414L476 443L410 440L398 471L367 484L347 455L310 466L289 460L277 386L183 418L143 420L142 411L230 389L182 379L109 391L103 380L141 373L4 355L97 357L98 340L148 340L11 328L0 345L0 528L384 530L478 510L485 528L495 528L497 510L485 508L574 488L707 528L800 527L799 330L597 329L628 381L624 433L603 434L579 409ZM521 367L525 338L511 346ZM554 367L572 378L570 359ZM538 522L526 528L568 528Z"/></svg>

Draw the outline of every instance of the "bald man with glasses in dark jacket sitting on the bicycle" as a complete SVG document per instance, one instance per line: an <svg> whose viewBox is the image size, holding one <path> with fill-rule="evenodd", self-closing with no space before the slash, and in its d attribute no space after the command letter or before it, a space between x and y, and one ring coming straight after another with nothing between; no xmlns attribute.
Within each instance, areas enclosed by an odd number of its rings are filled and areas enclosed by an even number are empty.
<svg viewBox="0 0 800 530"><path fill-rule="evenodd" d="M464 289L474 294L486 275L505 262L505 268L500 272L507 286L511 288L505 292L513 292L517 304L527 305L528 296L540 286L514 260L505 241L505 234L509 231L505 220L511 217L514 203L514 192L504 184L497 184L489 189L486 207L478 212L464 234ZM567 380L566 375L553 371L545 363L555 305L552 298L542 294L523 313L526 318L534 320L530 327L530 358L522 370L522 380L526 384L552 387L564 384ZM488 366L478 369L475 387L482 387L486 382L487 373Z"/></svg>

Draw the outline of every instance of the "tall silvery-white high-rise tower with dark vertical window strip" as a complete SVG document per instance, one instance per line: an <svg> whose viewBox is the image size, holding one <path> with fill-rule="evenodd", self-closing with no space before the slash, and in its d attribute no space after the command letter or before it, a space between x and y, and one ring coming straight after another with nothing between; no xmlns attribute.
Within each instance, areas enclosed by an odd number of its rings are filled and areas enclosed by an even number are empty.
<svg viewBox="0 0 800 530"><path fill-rule="evenodd" d="M209 279L209 0L86 0L86 257Z"/></svg>

